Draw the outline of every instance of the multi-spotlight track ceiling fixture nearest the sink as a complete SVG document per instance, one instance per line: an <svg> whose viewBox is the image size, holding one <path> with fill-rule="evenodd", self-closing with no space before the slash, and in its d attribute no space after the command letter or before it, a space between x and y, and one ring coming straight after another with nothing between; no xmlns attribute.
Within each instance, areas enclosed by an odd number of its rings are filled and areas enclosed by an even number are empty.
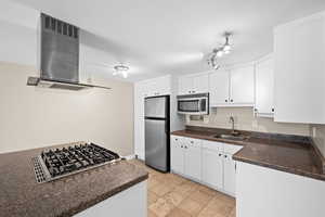
<svg viewBox="0 0 325 217"><path fill-rule="evenodd" d="M208 55L208 65L213 67L214 69L218 69L220 65L217 63L218 58L222 58L225 54L229 54L232 50L232 46L229 42L229 38L232 34L231 33L224 33L225 42L220 46L219 48L214 48L212 52Z"/></svg>

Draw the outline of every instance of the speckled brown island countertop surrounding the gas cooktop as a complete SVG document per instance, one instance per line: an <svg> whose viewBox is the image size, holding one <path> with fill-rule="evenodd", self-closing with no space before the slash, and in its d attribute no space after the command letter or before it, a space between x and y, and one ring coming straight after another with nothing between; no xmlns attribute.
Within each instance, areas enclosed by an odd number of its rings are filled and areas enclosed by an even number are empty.
<svg viewBox="0 0 325 217"><path fill-rule="evenodd" d="M43 149L0 154L0 216L73 216L148 177L144 169L120 161L37 183L31 157Z"/></svg>

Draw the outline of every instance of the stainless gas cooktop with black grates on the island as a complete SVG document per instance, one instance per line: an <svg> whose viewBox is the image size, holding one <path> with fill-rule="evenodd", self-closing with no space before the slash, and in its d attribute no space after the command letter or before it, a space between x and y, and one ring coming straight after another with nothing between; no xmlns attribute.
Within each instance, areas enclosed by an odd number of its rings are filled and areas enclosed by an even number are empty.
<svg viewBox="0 0 325 217"><path fill-rule="evenodd" d="M44 150L32 158L36 180L47 182L120 161L118 154L93 143Z"/></svg>

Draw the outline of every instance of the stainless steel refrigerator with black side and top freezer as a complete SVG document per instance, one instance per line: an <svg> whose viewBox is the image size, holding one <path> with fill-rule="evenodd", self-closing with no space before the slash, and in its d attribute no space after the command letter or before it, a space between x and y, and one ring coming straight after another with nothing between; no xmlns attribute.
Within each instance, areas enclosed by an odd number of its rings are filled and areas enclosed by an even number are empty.
<svg viewBox="0 0 325 217"><path fill-rule="evenodd" d="M170 113L169 95L146 98L145 164L160 171L170 169Z"/></svg>

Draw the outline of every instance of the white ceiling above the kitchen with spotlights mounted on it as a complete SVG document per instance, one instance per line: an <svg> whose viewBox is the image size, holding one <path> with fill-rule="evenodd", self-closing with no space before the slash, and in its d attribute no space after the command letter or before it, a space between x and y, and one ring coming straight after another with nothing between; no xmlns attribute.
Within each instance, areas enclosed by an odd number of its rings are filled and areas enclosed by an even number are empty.
<svg viewBox="0 0 325 217"><path fill-rule="evenodd" d="M14 1L84 29L88 46L110 56L98 63L126 63L129 80L209 69L204 55L225 30L234 50L221 63L255 60L272 52L274 26L325 10L324 0Z"/></svg>

